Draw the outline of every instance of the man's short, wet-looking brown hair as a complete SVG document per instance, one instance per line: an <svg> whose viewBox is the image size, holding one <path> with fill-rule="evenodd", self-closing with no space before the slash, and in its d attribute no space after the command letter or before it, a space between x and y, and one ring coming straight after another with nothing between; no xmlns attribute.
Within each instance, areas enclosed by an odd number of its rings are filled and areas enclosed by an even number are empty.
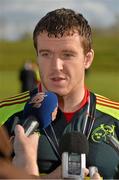
<svg viewBox="0 0 119 180"><path fill-rule="evenodd" d="M62 37L78 32L82 37L82 47L87 53L92 46L92 33L88 21L82 14L71 9L56 9L47 13L36 25L33 32L34 47L37 50L37 36L47 32L48 36Z"/></svg>

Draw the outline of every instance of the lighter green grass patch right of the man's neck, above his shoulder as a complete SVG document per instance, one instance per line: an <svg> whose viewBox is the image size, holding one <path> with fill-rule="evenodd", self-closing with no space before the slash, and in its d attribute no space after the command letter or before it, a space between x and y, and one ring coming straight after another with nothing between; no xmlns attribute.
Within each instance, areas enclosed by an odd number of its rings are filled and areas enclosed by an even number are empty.
<svg viewBox="0 0 119 180"><path fill-rule="evenodd" d="M90 72L86 79L87 87L97 94L119 101L118 72Z"/></svg>

